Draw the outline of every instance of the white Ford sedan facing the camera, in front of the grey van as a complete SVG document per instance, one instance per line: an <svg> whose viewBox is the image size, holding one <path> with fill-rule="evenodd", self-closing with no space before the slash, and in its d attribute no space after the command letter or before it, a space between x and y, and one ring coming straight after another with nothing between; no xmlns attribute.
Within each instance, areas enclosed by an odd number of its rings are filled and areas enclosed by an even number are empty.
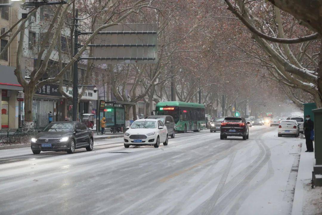
<svg viewBox="0 0 322 215"><path fill-rule="evenodd" d="M158 148L160 142L168 145L168 130L158 119L139 119L127 127L124 134L124 147L151 145Z"/></svg>

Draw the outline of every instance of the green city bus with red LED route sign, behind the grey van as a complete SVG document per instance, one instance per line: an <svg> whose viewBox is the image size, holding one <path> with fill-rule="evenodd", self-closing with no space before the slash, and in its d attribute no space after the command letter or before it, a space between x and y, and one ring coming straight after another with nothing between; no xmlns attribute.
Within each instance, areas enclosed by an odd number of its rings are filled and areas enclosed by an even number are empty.
<svg viewBox="0 0 322 215"><path fill-rule="evenodd" d="M205 128L205 106L199 103L159 102L156 115L170 115L175 120L175 131L199 132Z"/></svg>

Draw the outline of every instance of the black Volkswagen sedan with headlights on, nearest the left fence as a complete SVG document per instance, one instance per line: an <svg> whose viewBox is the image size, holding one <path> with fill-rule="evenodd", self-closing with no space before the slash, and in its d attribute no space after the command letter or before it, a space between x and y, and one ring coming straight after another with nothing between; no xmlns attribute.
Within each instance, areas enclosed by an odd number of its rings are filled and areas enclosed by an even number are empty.
<svg viewBox="0 0 322 215"><path fill-rule="evenodd" d="M41 151L67 151L86 148L92 151L94 133L81 122L52 122L42 132L31 139L31 150L34 154Z"/></svg>

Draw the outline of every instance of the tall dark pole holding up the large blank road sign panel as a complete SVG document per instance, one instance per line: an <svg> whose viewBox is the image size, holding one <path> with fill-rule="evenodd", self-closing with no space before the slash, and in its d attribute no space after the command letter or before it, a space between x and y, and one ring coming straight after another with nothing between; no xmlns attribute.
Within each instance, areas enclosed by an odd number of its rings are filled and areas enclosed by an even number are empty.
<svg viewBox="0 0 322 215"><path fill-rule="evenodd" d="M73 57L78 52L78 9L75 13L75 30L74 30L74 54ZM77 102L78 102L78 60L74 62L73 71L73 121L77 121Z"/></svg>

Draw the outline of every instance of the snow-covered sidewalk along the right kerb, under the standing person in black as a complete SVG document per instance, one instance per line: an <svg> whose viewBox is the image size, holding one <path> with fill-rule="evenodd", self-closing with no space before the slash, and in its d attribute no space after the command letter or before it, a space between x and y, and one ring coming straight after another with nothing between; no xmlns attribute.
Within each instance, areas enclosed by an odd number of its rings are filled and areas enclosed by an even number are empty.
<svg viewBox="0 0 322 215"><path fill-rule="evenodd" d="M306 145L303 143L295 185L292 215L321 214L322 212L322 187L311 189L312 171L315 163L314 153L305 151Z"/></svg>

